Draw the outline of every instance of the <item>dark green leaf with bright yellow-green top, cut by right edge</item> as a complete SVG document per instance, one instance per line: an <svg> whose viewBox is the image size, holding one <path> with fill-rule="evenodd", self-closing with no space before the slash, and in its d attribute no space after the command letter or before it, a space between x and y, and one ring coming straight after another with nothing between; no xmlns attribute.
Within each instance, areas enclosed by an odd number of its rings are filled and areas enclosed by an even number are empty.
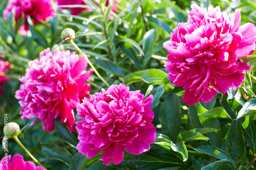
<svg viewBox="0 0 256 170"><path fill-rule="evenodd" d="M255 124L250 116L245 116L241 120L242 124L242 130L243 130L243 135L246 140L246 142L249 145L249 148L255 154L256 152L256 127Z"/></svg>

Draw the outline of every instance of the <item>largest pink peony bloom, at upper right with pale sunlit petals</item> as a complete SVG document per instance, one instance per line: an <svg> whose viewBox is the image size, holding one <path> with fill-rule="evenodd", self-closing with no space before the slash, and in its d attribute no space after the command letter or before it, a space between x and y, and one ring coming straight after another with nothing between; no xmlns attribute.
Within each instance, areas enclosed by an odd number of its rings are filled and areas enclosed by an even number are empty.
<svg viewBox="0 0 256 170"><path fill-rule="evenodd" d="M240 27L240 11L227 14L220 7L208 11L191 5L188 21L179 23L171 33L171 41L163 44L168 51L164 66L168 79L185 88L183 102L193 105L209 102L217 90L227 94L227 88L238 87L243 71L250 69L239 62L255 49L256 28L252 23Z"/></svg>

